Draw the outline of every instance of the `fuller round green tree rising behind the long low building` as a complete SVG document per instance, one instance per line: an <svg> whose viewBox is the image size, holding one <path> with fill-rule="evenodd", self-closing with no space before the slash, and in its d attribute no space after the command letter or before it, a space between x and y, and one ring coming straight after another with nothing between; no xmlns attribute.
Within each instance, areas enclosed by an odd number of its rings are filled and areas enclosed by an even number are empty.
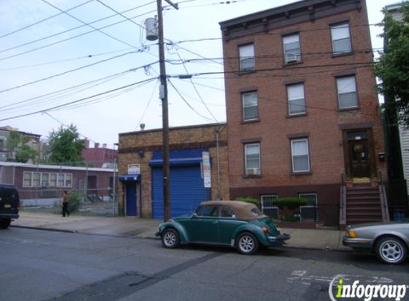
<svg viewBox="0 0 409 301"><path fill-rule="evenodd" d="M84 149L84 141L79 138L76 126L68 128L62 126L57 131L51 131L49 135L50 162L52 163L78 163L84 160L81 151Z"/></svg>

